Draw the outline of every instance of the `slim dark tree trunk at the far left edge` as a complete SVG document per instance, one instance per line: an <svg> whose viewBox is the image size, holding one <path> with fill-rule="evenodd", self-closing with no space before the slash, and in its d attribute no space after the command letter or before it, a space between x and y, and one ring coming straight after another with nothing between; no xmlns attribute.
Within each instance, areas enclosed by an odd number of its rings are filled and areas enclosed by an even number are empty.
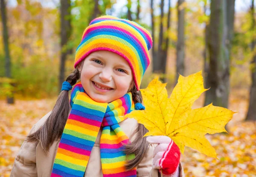
<svg viewBox="0 0 256 177"><path fill-rule="evenodd" d="M1 17L3 23L3 46L5 51L5 75L7 78L11 78L11 57L9 52L9 36L7 27L7 17L6 17L6 4L4 0L0 0L1 5ZM7 103L14 104L14 97L7 96Z"/></svg>

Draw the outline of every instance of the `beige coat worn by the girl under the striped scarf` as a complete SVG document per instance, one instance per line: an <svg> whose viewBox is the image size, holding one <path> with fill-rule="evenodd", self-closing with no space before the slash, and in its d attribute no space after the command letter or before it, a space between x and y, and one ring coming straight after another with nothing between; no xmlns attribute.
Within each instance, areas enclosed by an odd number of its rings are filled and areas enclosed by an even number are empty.
<svg viewBox="0 0 256 177"><path fill-rule="evenodd" d="M32 127L29 133L33 133L38 130L38 128L44 124L49 115L50 112L47 113L42 119L40 119ZM125 119L119 123L120 127L128 137L131 136L131 133L134 131L137 124L138 123L135 119ZM90 159L84 177L103 177L99 148L101 133L102 128L98 133L96 142L90 154ZM55 141L49 149L49 155L45 156L42 151L40 142L23 142L20 151L15 158L10 177L49 177L52 172L52 166L58 149L58 144L59 141ZM140 162L137 167L137 177L158 177L158 170L152 168L153 151L154 145L151 144L142 162ZM184 172L181 165L180 177L184 177Z"/></svg>

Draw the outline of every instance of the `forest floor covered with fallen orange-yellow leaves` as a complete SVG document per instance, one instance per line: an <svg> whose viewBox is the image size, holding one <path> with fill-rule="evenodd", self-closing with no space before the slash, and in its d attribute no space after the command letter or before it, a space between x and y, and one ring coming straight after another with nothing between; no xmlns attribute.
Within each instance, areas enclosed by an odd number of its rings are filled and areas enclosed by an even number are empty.
<svg viewBox="0 0 256 177"><path fill-rule="evenodd" d="M232 91L230 110L238 113L228 124L228 134L207 135L218 159L185 148L181 163L187 177L256 177L256 122L244 122L248 99L242 90ZM202 107L204 95L193 105ZM55 103L55 99L0 100L0 177L9 177L17 152L32 126Z"/></svg>

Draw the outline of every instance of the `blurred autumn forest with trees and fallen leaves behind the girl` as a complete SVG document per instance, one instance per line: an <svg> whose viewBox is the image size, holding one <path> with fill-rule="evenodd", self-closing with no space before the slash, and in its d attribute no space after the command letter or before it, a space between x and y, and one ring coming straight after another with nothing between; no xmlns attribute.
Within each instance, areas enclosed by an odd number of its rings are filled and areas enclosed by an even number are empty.
<svg viewBox="0 0 256 177"><path fill-rule="evenodd" d="M0 0L0 177L27 133L55 104L90 20L134 20L153 37L141 88L159 75L172 93L179 74L203 71L210 103L236 113L228 134L206 135L218 159L186 148L186 176L256 177L254 0ZM179 74L178 74L179 73Z"/></svg>

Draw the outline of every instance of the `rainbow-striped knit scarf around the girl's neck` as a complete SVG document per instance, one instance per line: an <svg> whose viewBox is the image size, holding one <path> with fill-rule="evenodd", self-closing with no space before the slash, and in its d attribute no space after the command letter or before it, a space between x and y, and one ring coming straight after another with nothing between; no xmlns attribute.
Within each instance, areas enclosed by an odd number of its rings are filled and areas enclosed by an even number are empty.
<svg viewBox="0 0 256 177"><path fill-rule="evenodd" d="M118 125L134 110L131 93L111 103L93 101L78 82L71 92L72 110L67 119L51 177L83 177L99 129L100 157L104 177L136 177L136 168L126 171L125 161L134 158L123 152L128 136ZM93 175L93 174L92 174Z"/></svg>

